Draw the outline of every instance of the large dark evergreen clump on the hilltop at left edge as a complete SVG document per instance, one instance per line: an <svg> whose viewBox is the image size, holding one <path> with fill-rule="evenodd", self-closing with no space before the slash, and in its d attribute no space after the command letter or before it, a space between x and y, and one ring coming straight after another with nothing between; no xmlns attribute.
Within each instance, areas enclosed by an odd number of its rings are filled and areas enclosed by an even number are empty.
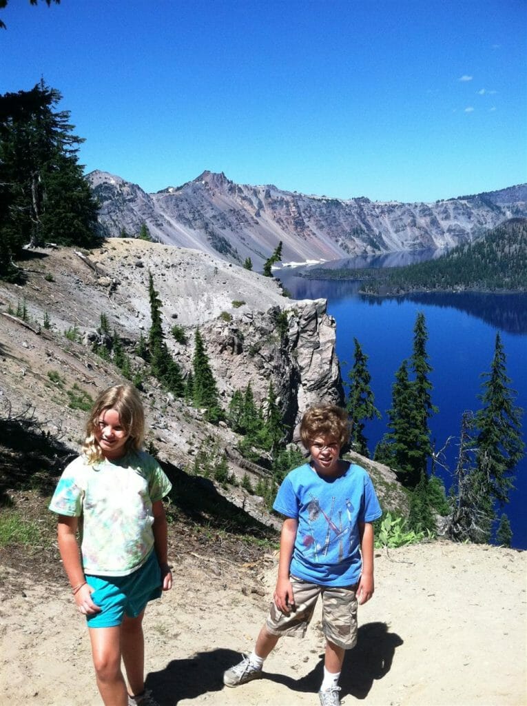
<svg viewBox="0 0 527 706"><path fill-rule="evenodd" d="M97 202L78 164L61 94L42 80L30 91L0 96L0 275L25 245L97 241Z"/></svg>

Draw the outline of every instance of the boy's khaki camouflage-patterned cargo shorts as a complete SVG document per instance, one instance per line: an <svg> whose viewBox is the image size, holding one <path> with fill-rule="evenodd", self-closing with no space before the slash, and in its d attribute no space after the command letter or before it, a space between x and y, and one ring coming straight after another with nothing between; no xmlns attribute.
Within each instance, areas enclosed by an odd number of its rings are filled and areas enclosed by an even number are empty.
<svg viewBox="0 0 527 706"><path fill-rule="evenodd" d="M303 638L313 618L318 597L322 595L322 632L329 642L350 650L357 642L357 585L320 586L291 576L294 610L281 613L274 602L265 623L271 635L295 635Z"/></svg>

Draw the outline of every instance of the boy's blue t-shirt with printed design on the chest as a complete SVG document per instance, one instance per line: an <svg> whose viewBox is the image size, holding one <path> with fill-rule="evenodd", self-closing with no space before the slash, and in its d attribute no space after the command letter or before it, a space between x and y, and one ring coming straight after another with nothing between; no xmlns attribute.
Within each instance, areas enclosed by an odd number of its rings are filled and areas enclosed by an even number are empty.
<svg viewBox="0 0 527 706"><path fill-rule="evenodd" d="M361 575L359 522L382 515L368 473L349 464L337 478L321 477L308 463L289 472L273 509L298 520L293 576L324 586L351 586Z"/></svg>

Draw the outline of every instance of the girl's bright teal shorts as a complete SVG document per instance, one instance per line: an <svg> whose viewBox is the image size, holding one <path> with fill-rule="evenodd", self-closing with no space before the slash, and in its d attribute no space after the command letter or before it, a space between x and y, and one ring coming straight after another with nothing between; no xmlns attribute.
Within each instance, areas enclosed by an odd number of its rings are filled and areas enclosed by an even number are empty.
<svg viewBox="0 0 527 706"><path fill-rule="evenodd" d="M86 581L95 590L92 601L102 610L86 616L88 628L114 628L121 625L126 614L137 618L149 601L162 594L161 569L155 551L147 561L126 576L90 576Z"/></svg>

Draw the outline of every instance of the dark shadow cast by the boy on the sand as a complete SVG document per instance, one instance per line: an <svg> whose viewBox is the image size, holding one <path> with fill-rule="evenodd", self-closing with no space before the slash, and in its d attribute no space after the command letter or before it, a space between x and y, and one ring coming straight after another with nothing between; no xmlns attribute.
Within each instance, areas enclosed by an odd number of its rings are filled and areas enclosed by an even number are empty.
<svg viewBox="0 0 527 706"><path fill-rule="evenodd" d="M372 684L382 679L392 668L395 650L403 644L396 633L389 633L386 623L365 623L358 628L357 645L346 652L342 666L339 686L341 697L352 695L357 699L365 699L370 693ZM265 674L265 678L294 691L316 693L322 683L324 654L315 669L300 679L292 679L283 674Z"/></svg>

